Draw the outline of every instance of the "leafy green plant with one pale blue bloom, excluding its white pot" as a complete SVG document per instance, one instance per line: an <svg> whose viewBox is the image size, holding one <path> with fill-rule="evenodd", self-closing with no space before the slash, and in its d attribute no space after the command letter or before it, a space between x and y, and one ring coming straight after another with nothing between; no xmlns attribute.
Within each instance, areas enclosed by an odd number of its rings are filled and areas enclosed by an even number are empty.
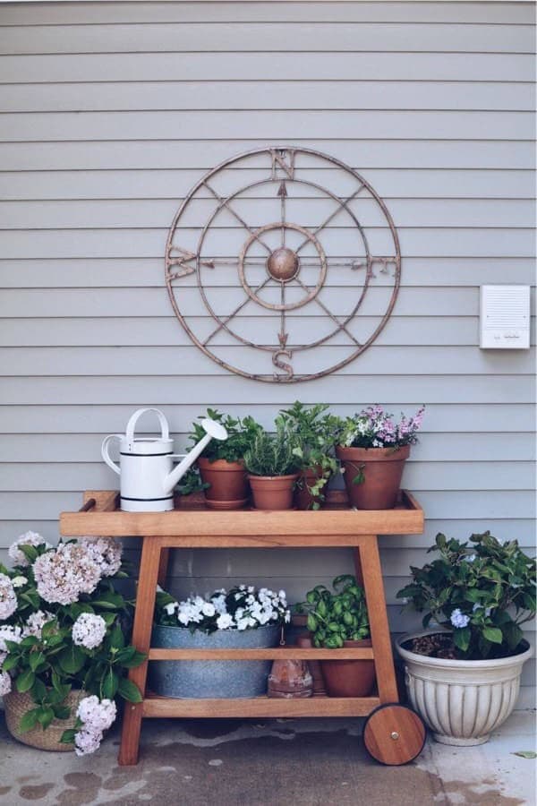
<svg viewBox="0 0 537 806"><path fill-rule="evenodd" d="M439 559L411 567L413 581L397 593L407 606L424 612L423 627L450 630L439 639L418 639L414 651L460 660L516 655L525 647L520 625L535 615L535 560L516 540L499 541L485 532L460 543L437 535L429 552ZM449 646L451 645L451 646Z"/></svg>

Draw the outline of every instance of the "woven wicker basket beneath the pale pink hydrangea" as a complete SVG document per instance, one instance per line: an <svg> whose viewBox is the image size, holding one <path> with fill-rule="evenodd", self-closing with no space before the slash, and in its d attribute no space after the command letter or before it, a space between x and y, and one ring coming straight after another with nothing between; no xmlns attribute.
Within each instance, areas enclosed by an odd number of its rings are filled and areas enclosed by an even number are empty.
<svg viewBox="0 0 537 806"><path fill-rule="evenodd" d="M29 744L30 747L38 748L38 750L55 750L55 752L59 753L72 752L74 745L61 744L60 739L64 731L74 727L76 709L81 699L87 696L86 691L80 689L70 691L64 701L64 705L71 708L72 716L69 719L54 719L45 731L41 725L38 725L31 731L21 733L19 730L21 716L26 711L30 711L31 708L35 708L36 704L29 694L19 694L16 691L12 691L10 694L4 695L5 724L13 739L16 739L17 742Z"/></svg>

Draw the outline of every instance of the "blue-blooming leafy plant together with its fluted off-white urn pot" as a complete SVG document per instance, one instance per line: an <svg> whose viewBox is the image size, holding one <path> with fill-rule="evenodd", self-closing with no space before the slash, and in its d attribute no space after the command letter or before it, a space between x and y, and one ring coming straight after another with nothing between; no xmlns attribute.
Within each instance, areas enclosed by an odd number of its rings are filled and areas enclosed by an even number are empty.
<svg viewBox="0 0 537 806"><path fill-rule="evenodd" d="M424 612L425 632L397 642L413 707L437 742L487 742L516 704L532 649L520 625L535 615L535 560L490 532L460 543L437 535L439 558L411 568L397 596Z"/></svg>

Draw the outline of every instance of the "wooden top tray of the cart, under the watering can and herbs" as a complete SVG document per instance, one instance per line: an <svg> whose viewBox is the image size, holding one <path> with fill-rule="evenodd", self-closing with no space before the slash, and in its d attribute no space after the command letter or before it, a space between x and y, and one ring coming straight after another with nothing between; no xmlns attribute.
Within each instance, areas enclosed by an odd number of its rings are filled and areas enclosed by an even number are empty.
<svg viewBox="0 0 537 806"><path fill-rule="evenodd" d="M356 545L363 535L420 535L422 507L401 491L393 510L353 510L340 499L322 510L209 510L178 498L170 512L123 512L115 491L84 493L84 507L62 512L63 536L175 537L174 545Z"/></svg>

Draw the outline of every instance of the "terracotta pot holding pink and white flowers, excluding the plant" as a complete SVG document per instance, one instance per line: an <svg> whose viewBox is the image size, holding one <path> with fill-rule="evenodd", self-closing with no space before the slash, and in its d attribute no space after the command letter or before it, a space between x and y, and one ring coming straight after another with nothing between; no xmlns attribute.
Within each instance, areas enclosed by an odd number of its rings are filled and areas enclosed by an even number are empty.
<svg viewBox="0 0 537 806"><path fill-rule="evenodd" d="M339 445L336 453L345 468L345 487L351 506L357 510L392 510L395 507L410 445L397 450L344 448ZM362 483L354 484L354 478L361 474Z"/></svg>

